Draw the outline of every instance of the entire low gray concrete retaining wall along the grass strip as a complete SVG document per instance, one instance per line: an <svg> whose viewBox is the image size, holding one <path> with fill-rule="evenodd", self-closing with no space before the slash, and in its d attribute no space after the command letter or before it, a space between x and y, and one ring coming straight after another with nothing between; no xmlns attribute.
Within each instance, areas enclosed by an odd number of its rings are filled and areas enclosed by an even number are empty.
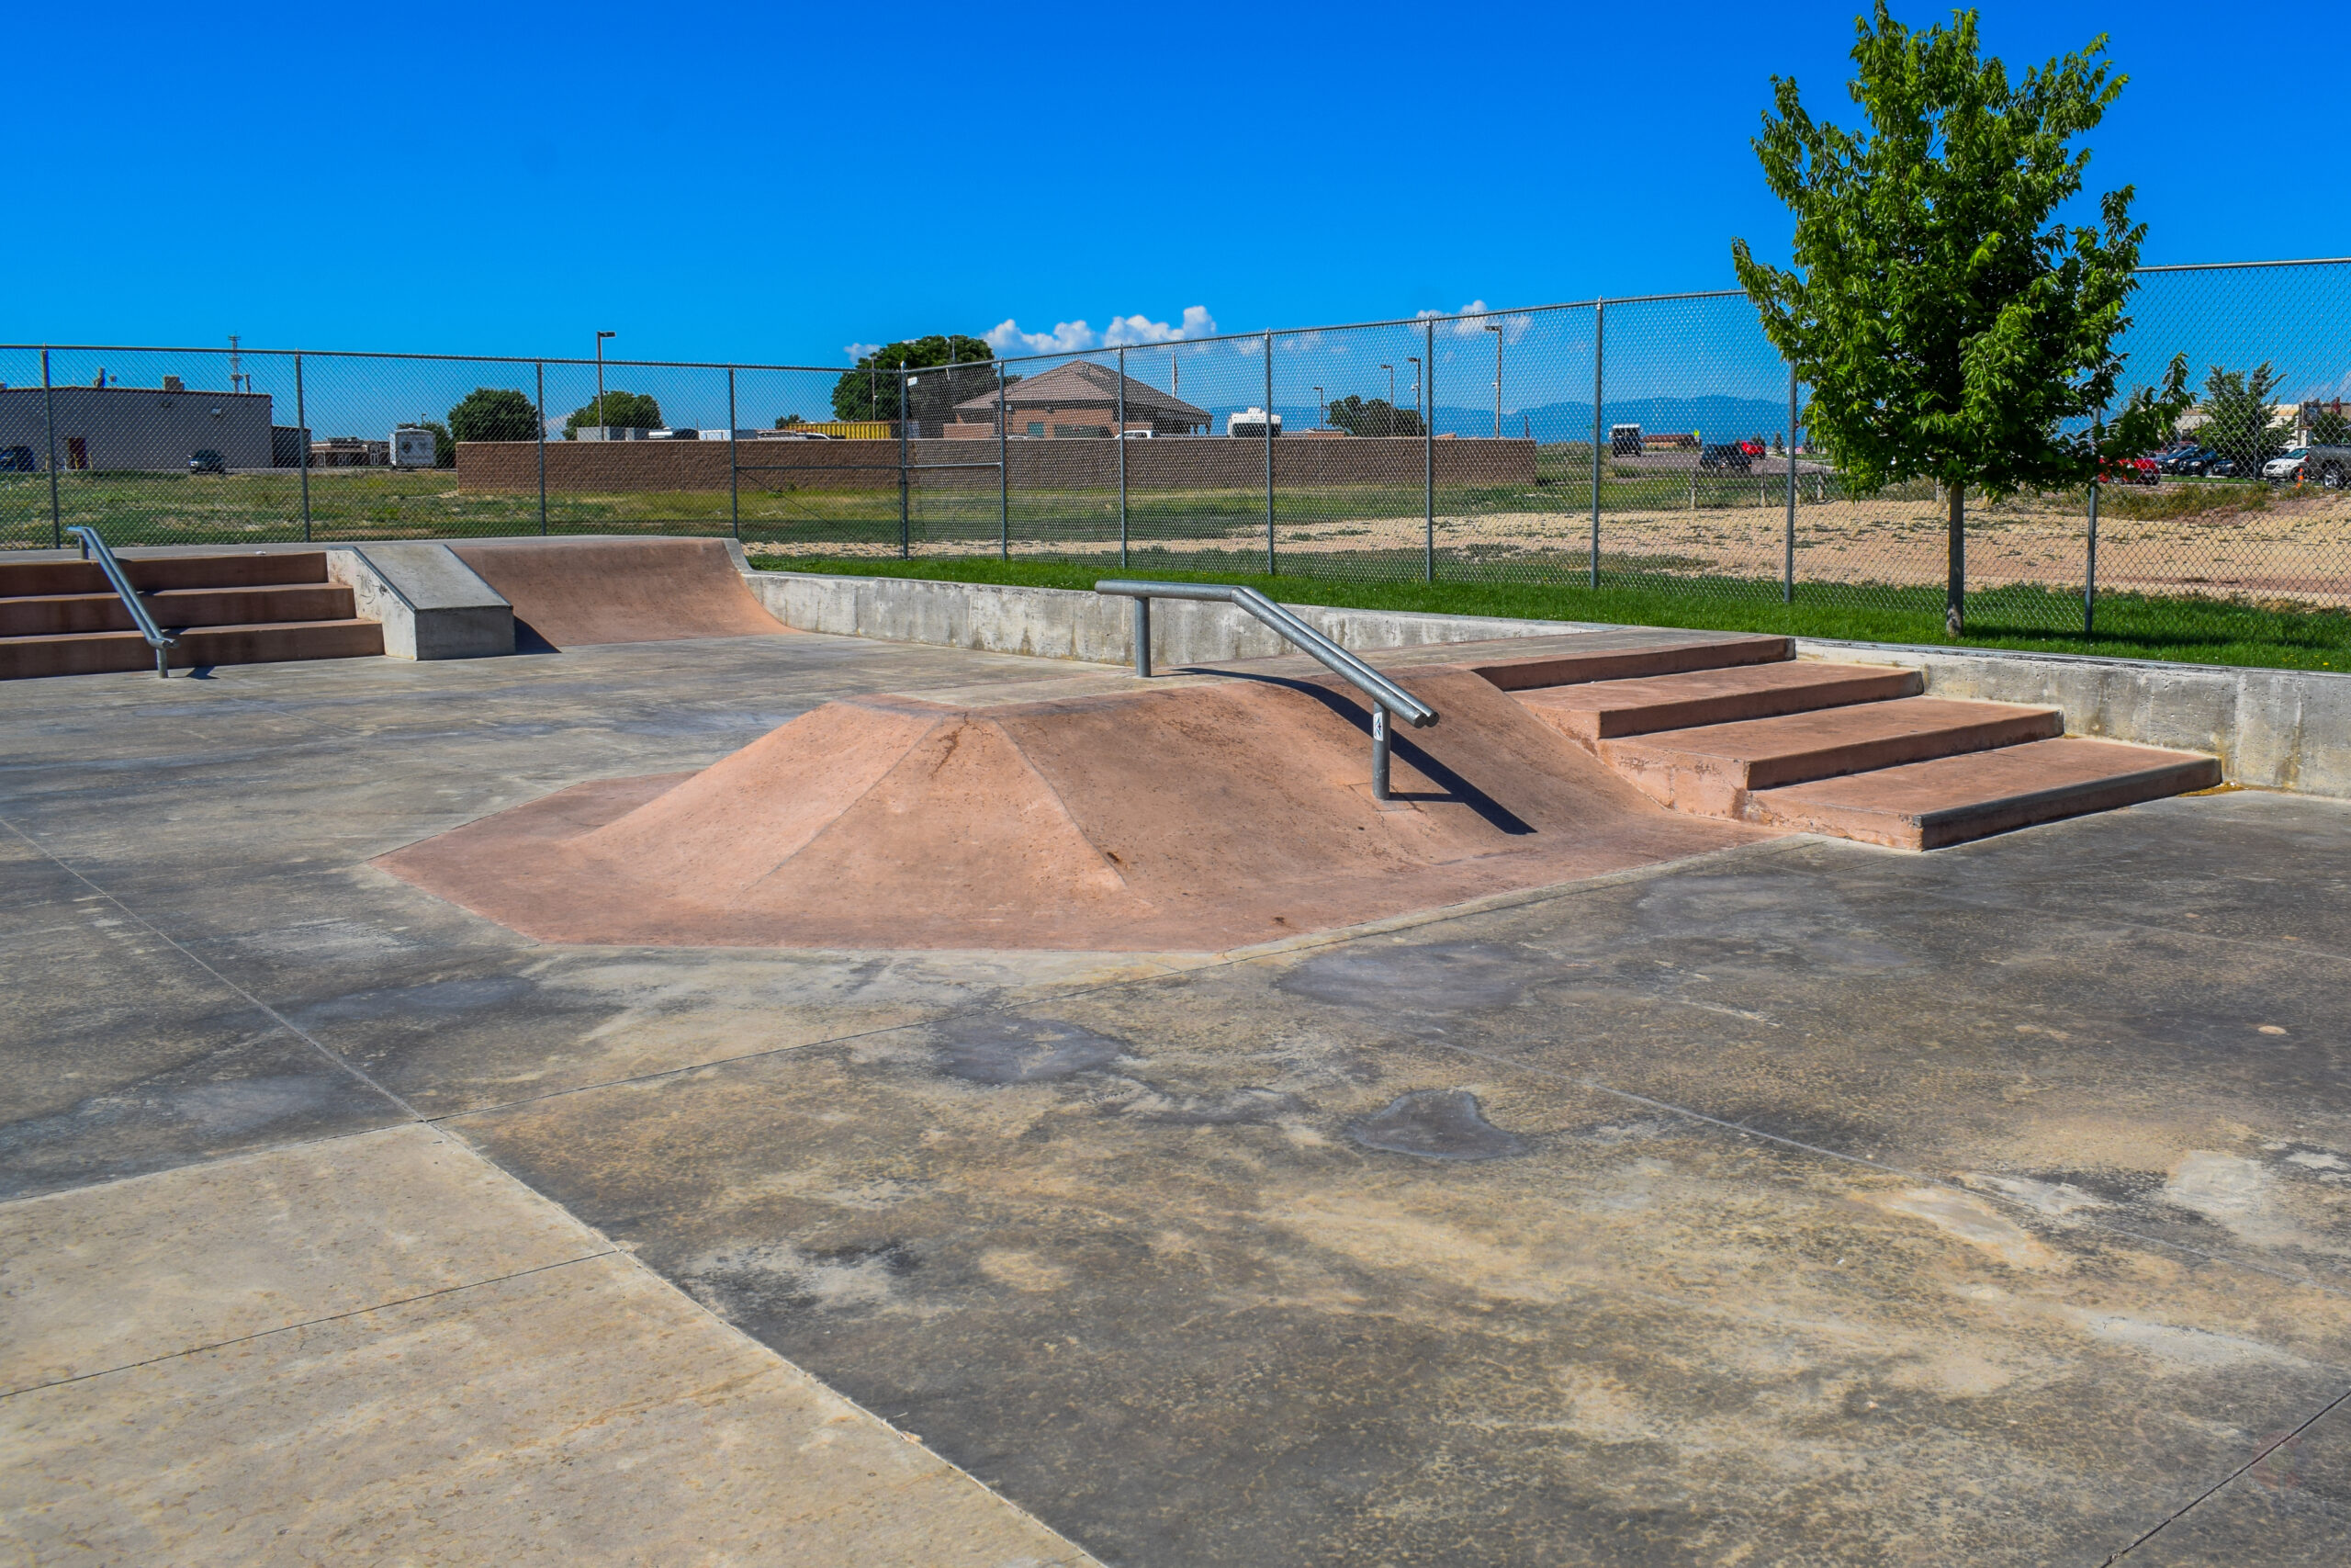
<svg viewBox="0 0 2351 1568"><path fill-rule="evenodd" d="M1133 663L1126 599L799 571L752 571L748 581L769 614L809 632ZM1575 621L1291 609L1338 644L1366 651L1603 630ZM1159 668L1281 651L1279 637L1227 604L1152 607ZM1813 639L1799 639L1796 654L1916 668L1935 696L2045 703L2064 710L2067 733L2210 752L2229 783L2351 799L2351 675Z"/></svg>

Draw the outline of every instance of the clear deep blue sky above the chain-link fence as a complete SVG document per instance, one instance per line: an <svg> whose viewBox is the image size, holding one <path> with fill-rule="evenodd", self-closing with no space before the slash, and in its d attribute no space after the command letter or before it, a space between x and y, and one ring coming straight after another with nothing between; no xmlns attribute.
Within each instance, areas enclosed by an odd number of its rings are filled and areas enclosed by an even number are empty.
<svg viewBox="0 0 2351 1568"><path fill-rule="evenodd" d="M1768 78L1843 108L1855 9L42 7L0 339L839 364L1728 287ZM2351 252L2271 31L1984 9L2012 68L2099 28L2149 261Z"/></svg>

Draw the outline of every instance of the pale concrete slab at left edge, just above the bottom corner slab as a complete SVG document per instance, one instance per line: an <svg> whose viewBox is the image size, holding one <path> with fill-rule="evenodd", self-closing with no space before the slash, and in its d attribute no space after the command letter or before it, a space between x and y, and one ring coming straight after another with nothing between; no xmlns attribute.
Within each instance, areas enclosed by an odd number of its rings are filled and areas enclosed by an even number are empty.
<svg viewBox="0 0 2351 1568"><path fill-rule="evenodd" d="M607 1251L416 1124L0 1204L0 1394Z"/></svg>

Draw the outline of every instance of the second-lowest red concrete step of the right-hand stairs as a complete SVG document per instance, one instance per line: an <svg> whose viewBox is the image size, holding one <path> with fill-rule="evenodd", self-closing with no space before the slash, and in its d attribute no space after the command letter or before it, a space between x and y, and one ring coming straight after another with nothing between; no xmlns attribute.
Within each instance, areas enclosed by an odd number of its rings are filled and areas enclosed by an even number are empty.
<svg viewBox="0 0 2351 1568"><path fill-rule="evenodd" d="M1749 790L2045 741L2062 731L2064 717L2055 708L1909 696L1596 741L1594 750L1650 799L1700 816L1740 816Z"/></svg>

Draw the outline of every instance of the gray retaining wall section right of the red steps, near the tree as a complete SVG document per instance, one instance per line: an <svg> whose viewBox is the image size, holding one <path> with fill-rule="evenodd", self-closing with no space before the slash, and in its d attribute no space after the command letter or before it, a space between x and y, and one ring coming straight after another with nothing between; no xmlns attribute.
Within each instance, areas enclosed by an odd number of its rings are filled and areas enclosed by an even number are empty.
<svg viewBox="0 0 2351 1568"><path fill-rule="evenodd" d="M1796 658L1904 665L1930 696L2048 703L2069 736L2210 752L2229 783L2351 799L2351 672L1810 637Z"/></svg>

